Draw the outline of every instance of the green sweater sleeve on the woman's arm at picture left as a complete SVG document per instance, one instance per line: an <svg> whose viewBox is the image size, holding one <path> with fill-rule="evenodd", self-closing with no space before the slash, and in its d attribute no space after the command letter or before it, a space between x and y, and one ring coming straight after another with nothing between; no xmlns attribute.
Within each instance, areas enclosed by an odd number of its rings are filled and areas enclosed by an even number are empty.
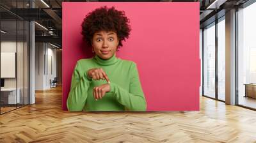
<svg viewBox="0 0 256 143"><path fill-rule="evenodd" d="M90 79L87 78L86 72L83 75L79 75L79 63L77 62L67 99L67 108L69 111L83 110L89 87Z"/></svg>

